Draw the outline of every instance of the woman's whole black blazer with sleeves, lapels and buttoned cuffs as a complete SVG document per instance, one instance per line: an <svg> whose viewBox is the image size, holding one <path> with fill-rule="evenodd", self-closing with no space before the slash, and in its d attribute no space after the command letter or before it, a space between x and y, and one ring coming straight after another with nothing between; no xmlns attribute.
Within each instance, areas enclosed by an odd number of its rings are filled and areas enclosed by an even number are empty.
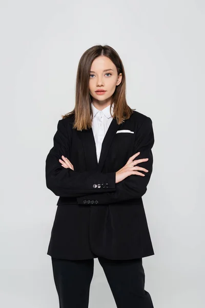
<svg viewBox="0 0 205 308"><path fill-rule="evenodd" d="M92 128L72 128L74 116L59 120L54 146L46 158L46 185L56 195L56 215L47 254L83 260L102 256L123 260L154 255L142 196L152 174L152 120L133 110L122 124L112 120L103 140L99 163ZM120 132L118 130L130 130ZM134 153L149 172L115 183L115 172ZM67 157L74 170L58 161Z"/></svg>

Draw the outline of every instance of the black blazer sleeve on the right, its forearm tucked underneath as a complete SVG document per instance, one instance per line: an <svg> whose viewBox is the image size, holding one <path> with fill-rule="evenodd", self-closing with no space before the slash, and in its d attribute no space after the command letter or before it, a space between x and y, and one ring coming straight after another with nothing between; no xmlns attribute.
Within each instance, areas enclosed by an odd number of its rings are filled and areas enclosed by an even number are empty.
<svg viewBox="0 0 205 308"><path fill-rule="evenodd" d="M132 155L140 152L140 154L134 160L149 158L147 162L137 164L137 166L148 169L149 172L140 171L145 174L144 177L131 175L125 178L121 182L116 183L116 190L113 192L101 192L101 194L98 195L77 197L77 203L83 204L84 200L96 199L98 204L109 204L142 197L147 191L147 185L152 174L153 155L151 149L153 145L154 132L152 127L152 120L149 117L146 117L145 121L137 130Z"/></svg>

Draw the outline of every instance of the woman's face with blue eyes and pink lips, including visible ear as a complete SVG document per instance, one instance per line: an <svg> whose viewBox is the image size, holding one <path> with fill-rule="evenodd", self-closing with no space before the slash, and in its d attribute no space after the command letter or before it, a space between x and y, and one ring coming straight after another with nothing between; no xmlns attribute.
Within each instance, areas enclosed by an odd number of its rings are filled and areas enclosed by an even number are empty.
<svg viewBox="0 0 205 308"><path fill-rule="evenodd" d="M98 56L90 69L89 91L93 102L109 102L121 79L122 74L117 75L117 68L114 63L107 56ZM105 92L97 94L97 90L104 90Z"/></svg>

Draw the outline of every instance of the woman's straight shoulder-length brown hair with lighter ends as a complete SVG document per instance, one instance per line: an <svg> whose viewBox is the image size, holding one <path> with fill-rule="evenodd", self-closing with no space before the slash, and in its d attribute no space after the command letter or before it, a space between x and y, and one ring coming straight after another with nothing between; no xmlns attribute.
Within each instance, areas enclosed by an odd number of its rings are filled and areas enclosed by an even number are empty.
<svg viewBox="0 0 205 308"><path fill-rule="evenodd" d="M124 120L130 118L133 110L127 105L126 101L126 76L125 69L118 53L110 46L95 45L84 52L81 56L76 76L76 93L75 93L75 107L71 112L61 115L61 117L67 118L74 115L73 128L77 130L89 129L92 127L92 97L89 93L89 79L90 68L92 62L99 55L109 57L117 68L117 73L122 73L121 83L116 86L115 91L111 98L111 106L113 104L113 118L117 120L117 124L121 124Z"/></svg>

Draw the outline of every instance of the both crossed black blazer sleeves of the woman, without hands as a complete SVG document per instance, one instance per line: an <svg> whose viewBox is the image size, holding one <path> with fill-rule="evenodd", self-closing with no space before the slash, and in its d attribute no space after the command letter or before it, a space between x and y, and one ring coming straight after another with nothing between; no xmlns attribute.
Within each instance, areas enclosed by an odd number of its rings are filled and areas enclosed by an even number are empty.
<svg viewBox="0 0 205 308"><path fill-rule="evenodd" d="M70 128L71 129L71 128ZM54 146L46 159L46 183L47 187L56 196L76 197L78 204L84 204L84 200L98 200L98 204L109 204L142 197L147 191L153 166L152 147L154 144L154 133L152 120L146 117L136 132L133 147L133 155L140 152L137 159L149 158L142 165L149 170L144 177L131 175L119 183L115 183L115 172L76 172L71 168L61 166L61 156L68 157L70 146L69 133L65 121L59 120L57 132L54 136ZM96 182L109 183L109 188L93 188Z"/></svg>

